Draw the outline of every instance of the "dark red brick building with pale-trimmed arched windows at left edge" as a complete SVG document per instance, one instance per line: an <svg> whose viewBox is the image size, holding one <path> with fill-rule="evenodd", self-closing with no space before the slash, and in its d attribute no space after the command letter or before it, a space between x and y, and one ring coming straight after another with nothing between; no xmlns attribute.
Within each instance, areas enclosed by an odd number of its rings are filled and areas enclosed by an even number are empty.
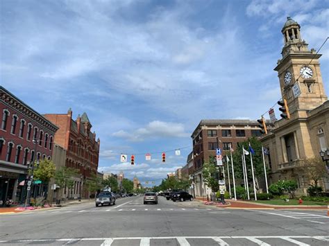
<svg viewBox="0 0 329 246"><path fill-rule="evenodd" d="M6 197L22 202L28 164L51 159L58 128L1 86L0 117L0 203Z"/></svg>

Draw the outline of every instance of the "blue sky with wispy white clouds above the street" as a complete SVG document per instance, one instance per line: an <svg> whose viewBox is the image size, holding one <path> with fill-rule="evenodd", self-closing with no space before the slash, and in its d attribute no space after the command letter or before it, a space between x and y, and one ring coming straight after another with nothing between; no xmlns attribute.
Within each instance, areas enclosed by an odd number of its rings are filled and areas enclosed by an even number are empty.
<svg viewBox="0 0 329 246"><path fill-rule="evenodd" d="M101 139L100 171L159 184L186 164L201 119L257 119L280 99L273 69L287 16L317 50L329 36L328 7L328 0L1 0L0 85L40 114L86 112ZM328 94L329 42L320 53ZM135 155L135 166L121 163L121 153Z"/></svg>

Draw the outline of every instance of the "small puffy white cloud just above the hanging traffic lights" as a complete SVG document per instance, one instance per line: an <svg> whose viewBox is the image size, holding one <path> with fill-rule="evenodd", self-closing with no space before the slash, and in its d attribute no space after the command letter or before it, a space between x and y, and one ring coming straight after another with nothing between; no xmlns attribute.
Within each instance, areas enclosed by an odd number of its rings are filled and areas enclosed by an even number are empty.
<svg viewBox="0 0 329 246"><path fill-rule="evenodd" d="M112 134L114 137L121 137L130 141L143 141L146 137L188 137L185 132L184 125L181 123L172 123L164 121L151 121L144 128L129 133L124 130L119 130Z"/></svg>

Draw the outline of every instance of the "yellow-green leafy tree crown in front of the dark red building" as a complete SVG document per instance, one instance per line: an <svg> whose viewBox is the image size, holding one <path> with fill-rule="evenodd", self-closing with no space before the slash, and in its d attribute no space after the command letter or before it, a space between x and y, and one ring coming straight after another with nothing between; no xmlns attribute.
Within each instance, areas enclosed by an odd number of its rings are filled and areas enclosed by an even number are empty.
<svg viewBox="0 0 329 246"><path fill-rule="evenodd" d="M33 179L41 180L42 183L48 183L51 177L56 173L56 166L53 164L53 161L49 159L40 160L39 164L33 168L33 171L30 171L33 174Z"/></svg>

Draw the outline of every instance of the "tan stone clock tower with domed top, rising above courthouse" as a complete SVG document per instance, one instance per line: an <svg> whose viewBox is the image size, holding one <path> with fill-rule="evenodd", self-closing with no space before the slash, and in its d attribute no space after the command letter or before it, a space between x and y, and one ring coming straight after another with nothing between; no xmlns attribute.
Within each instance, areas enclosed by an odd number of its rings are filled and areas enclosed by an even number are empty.
<svg viewBox="0 0 329 246"><path fill-rule="evenodd" d="M274 70L278 71L282 98L287 100L292 118L304 117L308 110L328 100L320 71L321 55L308 49L301 39L301 26L292 18L287 17L281 32L282 59Z"/></svg>

